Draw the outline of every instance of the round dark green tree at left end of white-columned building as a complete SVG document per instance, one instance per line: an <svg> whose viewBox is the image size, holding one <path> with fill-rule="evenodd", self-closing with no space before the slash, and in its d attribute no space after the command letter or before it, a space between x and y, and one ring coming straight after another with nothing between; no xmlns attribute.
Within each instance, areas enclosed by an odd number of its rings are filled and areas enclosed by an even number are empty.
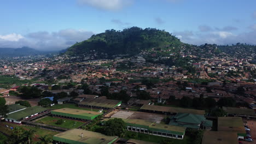
<svg viewBox="0 0 256 144"><path fill-rule="evenodd" d="M109 119L103 125L103 133L110 136L123 136L126 131L126 124L121 118Z"/></svg>

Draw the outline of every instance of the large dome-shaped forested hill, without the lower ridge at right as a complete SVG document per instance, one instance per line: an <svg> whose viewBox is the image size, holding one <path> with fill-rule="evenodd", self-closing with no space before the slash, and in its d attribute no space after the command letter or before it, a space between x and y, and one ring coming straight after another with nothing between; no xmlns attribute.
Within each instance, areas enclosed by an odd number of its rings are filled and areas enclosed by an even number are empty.
<svg viewBox="0 0 256 144"><path fill-rule="evenodd" d="M131 27L123 31L107 30L92 35L88 40L71 46L66 53L69 55L90 52L106 53L107 55L137 54L141 50L180 44L181 41L168 32L155 28Z"/></svg>

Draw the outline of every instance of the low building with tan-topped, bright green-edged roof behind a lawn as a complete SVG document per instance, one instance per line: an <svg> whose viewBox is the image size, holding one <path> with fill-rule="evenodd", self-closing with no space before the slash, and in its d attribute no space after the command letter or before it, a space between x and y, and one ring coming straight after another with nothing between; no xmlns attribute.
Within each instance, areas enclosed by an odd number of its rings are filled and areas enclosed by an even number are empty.
<svg viewBox="0 0 256 144"><path fill-rule="evenodd" d="M63 108L51 111L51 114L55 117L63 117L69 119L76 119L79 121L90 121L97 116L102 115L102 112L86 111L78 109Z"/></svg>

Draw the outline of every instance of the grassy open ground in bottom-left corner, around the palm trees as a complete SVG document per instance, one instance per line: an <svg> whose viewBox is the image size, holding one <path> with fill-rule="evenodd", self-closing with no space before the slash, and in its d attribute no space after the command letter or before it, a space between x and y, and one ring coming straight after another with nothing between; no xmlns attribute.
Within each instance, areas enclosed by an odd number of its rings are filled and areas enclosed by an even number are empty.
<svg viewBox="0 0 256 144"><path fill-rule="evenodd" d="M30 129L36 130L36 133L34 134L34 139L33 139L34 141L38 141L38 137L40 137L40 136L44 136L44 135L54 136L56 134L59 134L59 132L56 132L56 131L50 131L50 130L46 130L46 129L30 127L27 125L19 125L19 124L8 123L8 122L0 122L0 131L2 131L5 134L8 134L8 135L11 134L11 129L5 127L5 125L8 125L9 127L13 127L13 128L21 127L25 130L30 130Z"/></svg>

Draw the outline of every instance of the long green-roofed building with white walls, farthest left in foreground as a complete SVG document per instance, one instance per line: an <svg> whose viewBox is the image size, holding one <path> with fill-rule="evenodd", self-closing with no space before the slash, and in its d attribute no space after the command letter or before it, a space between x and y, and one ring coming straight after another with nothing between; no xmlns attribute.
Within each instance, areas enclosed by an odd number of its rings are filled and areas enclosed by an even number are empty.
<svg viewBox="0 0 256 144"><path fill-rule="evenodd" d="M21 123L22 120L36 116L45 112L47 109L41 106L27 107L26 109L16 111L7 115L5 121L13 123Z"/></svg>

